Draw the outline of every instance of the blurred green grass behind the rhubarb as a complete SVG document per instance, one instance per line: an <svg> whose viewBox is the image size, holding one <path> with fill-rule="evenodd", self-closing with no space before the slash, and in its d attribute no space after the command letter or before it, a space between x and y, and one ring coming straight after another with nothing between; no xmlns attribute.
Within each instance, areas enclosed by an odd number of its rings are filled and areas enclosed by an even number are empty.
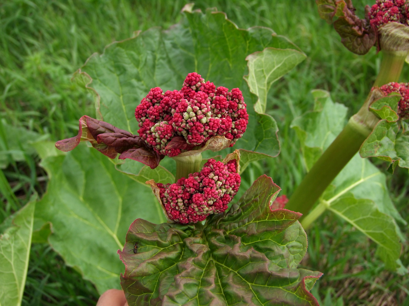
<svg viewBox="0 0 409 306"><path fill-rule="evenodd" d="M292 119L312 106L310 91L331 92L352 115L371 88L380 66L375 48L363 56L347 51L331 25L319 19L314 0L9 0L0 2L0 223L24 205L30 195L45 192L47 175L27 137L12 131L34 131L29 139L52 141L72 137L78 119L94 116L92 97L71 82L72 73L94 52L136 30L167 28L180 19L184 4L217 7L238 27L270 27L296 43L308 58L269 96L269 110L280 128L281 154L254 162L243 174L242 188L262 173L290 195L305 170ZM354 0L363 17L364 4ZM405 65L401 81L407 82ZM374 161L382 170L385 165ZM386 172L386 171L385 171ZM407 171L388 174L393 200L409 221ZM408 233L407 229L403 229ZM374 245L336 217L325 214L307 233L308 255L302 265L325 273L313 289L321 305L409 305L409 278L383 271ZM401 257L407 266L407 244ZM23 305L94 305L97 291L74 268L65 266L47 244L34 244ZM386 301L387 304L382 304ZM393 304L395 303L395 304Z"/></svg>

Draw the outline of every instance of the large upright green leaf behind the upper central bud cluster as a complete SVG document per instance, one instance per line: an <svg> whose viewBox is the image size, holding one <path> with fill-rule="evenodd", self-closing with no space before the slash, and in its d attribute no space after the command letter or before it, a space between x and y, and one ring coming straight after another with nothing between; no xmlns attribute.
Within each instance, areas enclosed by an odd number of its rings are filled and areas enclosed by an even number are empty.
<svg viewBox="0 0 409 306"><path fill-rule="evenodd" d="M216 86L239 87L250 118L247 131L235 148L277 155L276 122L268 115L255 113L256 101L243 80L246 56L265 47L274 47L274 52L280 54L293 52L305 56L290 50L297 47L271 29L238 29L225 13L191 11L191 6L187 6L181 22L169 30L152 28L110 44L102 55L92 55L76 73L76 80L96 94L98 119L133 134L138 130L135 107L152 87L179 90L192 71ZM283 65L283 58L276 62L277 66L285 67L279 69L281 75L294 67L295 62L289 62ZM269 67L274 67L274 63Z"/></svg>

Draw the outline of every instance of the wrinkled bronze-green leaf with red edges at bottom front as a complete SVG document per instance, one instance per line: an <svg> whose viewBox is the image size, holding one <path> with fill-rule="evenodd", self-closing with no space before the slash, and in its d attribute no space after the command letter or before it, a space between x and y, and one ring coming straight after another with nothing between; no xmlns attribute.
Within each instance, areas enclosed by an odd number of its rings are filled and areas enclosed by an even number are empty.
<svg viewBox="0 0 409 306"><path fill-rule="evenodd" d="M263 175L205 226L135 220L118 251L128 305L318 305L309 290L322 274L297 269L300 215L270 208L279 190Z"/></svg>

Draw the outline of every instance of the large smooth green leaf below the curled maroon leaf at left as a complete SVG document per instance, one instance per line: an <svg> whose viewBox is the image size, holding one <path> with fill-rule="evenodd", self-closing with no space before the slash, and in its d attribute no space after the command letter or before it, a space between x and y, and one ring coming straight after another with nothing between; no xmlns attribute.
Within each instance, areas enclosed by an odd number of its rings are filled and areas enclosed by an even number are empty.
<svg viewBox="0 0 409 306"><path fill-rule="evenodd" d="M85 144L47 157L41 165L51 179L37 204L36 224L52 224L49 243L99 292L119 288L123 266L116 253L129 224L136 217L166 220L151 187L117 171L111 160Z"/></svg>

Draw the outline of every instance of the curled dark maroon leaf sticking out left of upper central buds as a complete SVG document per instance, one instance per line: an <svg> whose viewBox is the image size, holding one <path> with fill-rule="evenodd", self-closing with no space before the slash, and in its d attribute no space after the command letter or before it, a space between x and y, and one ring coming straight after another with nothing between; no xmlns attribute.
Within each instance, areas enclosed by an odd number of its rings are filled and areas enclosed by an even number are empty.
<svg viewBox="0 0 409 306"><path fill-rule="evenodd" d="M67 152L78 146L81 141L90 142L95 149L110 158L115 158L118 153L121 153L120 160L130 158L152 169L157 167L163 157L153 151L141 137L86 115L79 120L78 134L56 142L55 146Z"/></svg>

